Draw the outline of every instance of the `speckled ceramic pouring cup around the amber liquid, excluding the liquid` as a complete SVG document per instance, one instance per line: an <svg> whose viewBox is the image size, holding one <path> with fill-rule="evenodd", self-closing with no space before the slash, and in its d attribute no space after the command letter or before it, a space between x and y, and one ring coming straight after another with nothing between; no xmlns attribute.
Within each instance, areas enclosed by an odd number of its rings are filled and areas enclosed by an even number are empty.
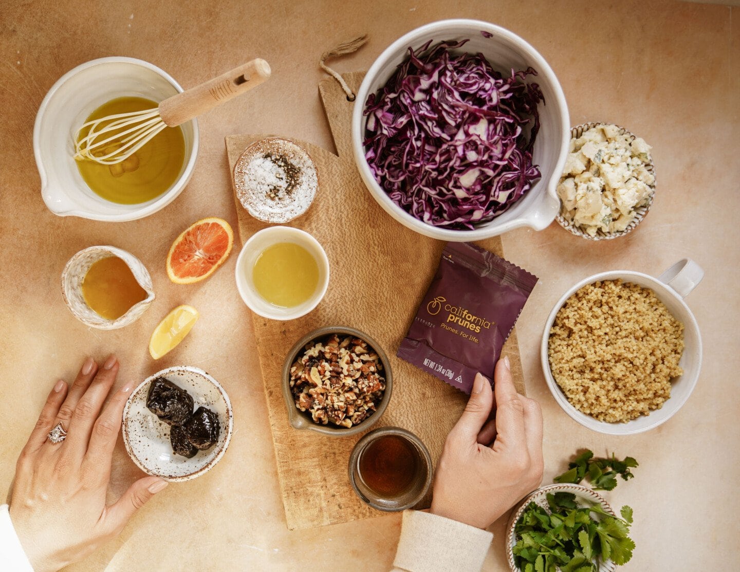
<svg viewBox="0 0 740 572"><path fill-rule="evenodd" d="M129 311L117 320L108 320L102 317L90 306L87 306L87 302L85 302L82 295L82 282L87 271L90 270L90 266L102 258L110 258L111 256L121 258L131 269L139 286L147 292L147 297L144 300L131 306ZM141 317L141 314L147 311L155 297L152 289L152 277L149 276L146 266L131 253L115 248L115 246L90 246L70 258L67 266L64 266L64 270L61 272L61 295L64 297L67 308L78 320L87 326L101 330L123 328L135 322Z"/></svg>

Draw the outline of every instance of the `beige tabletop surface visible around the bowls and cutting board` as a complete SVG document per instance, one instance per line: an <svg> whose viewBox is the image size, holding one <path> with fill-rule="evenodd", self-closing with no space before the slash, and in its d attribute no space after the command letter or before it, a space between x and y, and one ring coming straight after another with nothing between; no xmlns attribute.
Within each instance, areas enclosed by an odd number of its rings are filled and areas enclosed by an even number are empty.
<svg viewBox="0 0 740 572"><path fill-rule="evenodd" d="M366 70L408 30L450 17L480 18L523 36L558 76L571 124L606 121L653 146L658 189L650 214L627 238L593 243L557 223L503 236L506 258L540 277L517 332L527 392L545 417L545 480L578 448L640 462L630 482L607 493L634 508L630 571L734 571L740 549L740 26L737 8L682 1L323 0L297 2L144 0L16 1L0 4L0 486L10 485L19 450L59 376L71 380L88 354L121 360L118 383L166 366L206 369L235 407L232 444L197 480L170 485L124 533L73 571L386 571L400 515L289 532L249 310L233 280L235 255L213 277L176 286L164 272L173 238L189 223L221 216L236 226L224 137L289 135L333 149L317 93L323 50L359 33L360 52L336 61ZM171 205L141 221L58 218L41 200L32 132L38 105L63 73L92 58L127 55L162 67L184 87L259 56L273 76L258 90L200 121L195 175ZM157 299L132 326L90 329L64 306L67 259L95 244L138 256ZM545 318L577 280L608 269L657 275L688 257L705 271L687 297L704 343L696 390L673 419L633 437L596 434L551 397L539 361ZM181 303L201 320L158 362L147 340ZM441 383L441 382L440 382ZM110 497L141 475L119 443ZM348 485L349 486L349 485ZM505 519L485 560L506 569ZM0 568L2 568L0 563Z"/></svg>

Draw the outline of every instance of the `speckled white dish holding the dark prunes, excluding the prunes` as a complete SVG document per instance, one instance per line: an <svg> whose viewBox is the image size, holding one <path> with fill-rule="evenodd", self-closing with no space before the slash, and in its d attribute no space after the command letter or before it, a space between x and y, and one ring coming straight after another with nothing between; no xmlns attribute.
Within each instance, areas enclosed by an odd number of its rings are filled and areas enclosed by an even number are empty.
<svg viewBox="0 0 740 572"><path fill-rule="evenodd" d="M149 384L165 377L185 389L195 401L195 408L207 407L218 415L221 433L218 442L207 451L198 451L192 459L172 452L169 425L147 409ZM129 396L124 408L124 445L129 457L147 474L168 481L187 481L200 477L221 460L231 441L234 413L221 384L202 369L173 366L147 377Z"/></svg>

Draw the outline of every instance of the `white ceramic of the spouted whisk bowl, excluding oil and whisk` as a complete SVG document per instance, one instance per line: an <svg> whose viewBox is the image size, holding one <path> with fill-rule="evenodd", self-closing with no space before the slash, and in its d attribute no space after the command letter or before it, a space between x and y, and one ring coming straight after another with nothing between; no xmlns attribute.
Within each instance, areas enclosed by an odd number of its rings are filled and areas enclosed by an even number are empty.
<svg viewBox="0 0 740 572"><path fill-rule="evenodd" d="M173 168L176 174L172 183L157 185L156 192L128 201L117 201L94 191L91 188L94 184L85 181L74 159L73 136L87 117L116 98L144 98L156 104L181 91L172 76L148 61L135 58L87 61L59 78L41 101L33 127L41 196L50 211L59 216L95 221L135 221L174 201L195 168L199 140L195 119L178 128L184 139L184 157L175 158L174 164L179 162L179 166Z"/></svg>

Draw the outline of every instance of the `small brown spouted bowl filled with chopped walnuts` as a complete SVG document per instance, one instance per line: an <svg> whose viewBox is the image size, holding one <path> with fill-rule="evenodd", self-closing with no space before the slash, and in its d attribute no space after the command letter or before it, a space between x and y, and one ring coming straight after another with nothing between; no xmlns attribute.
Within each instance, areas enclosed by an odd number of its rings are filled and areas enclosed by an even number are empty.
<svg viewBox="0 0 740 572"><path fill-rule="evenodd" d="M368 334L344 326L326 326L298 340L282 381L290 424L333 437L373 425L393 388L386 352Z"/></svg>

